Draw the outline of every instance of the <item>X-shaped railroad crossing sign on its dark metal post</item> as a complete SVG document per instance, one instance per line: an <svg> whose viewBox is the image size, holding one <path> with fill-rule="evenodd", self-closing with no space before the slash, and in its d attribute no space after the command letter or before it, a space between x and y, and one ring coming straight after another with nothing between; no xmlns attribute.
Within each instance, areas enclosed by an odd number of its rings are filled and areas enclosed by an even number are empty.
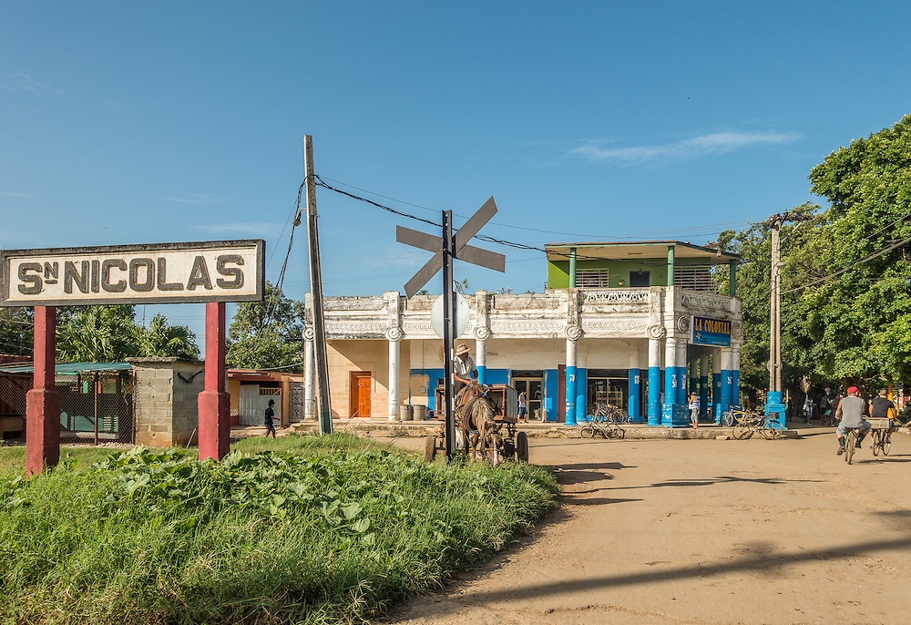
<svg viewBox="0 0 911 625"><path fill-rule="evenodd" d="M415 276L404 285L404 292L410 298L423 287L436 272L443 270L443 365L445 371L444 382L444 414L446 431L446 461L452 461L455 442L455 418L453 417L453 339L455 333L455 306L453 302L453 260L471 262L497 272L505 272L507 257L494 251L481 250L468 245L481 227L496 215L496 203L493 198L484 202L484 206L476 210L468 218L465 225L455 232L453 237L452 210L443 211L443 236L435 237L425 232L414 231L402 226L395 228L395 241L412 245L426 251L433 251L433 257L426 262ZM436 407L439 413L439 406Z"/></svg>

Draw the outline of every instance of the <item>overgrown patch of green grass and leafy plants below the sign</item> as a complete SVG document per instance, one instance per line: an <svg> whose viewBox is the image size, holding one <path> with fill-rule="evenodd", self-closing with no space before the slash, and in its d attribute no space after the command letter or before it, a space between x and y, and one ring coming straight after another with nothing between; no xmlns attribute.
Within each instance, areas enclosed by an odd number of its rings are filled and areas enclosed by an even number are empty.
<svg viewBox="0 0 911 625"><path fill-rule="evenodd" d="M0 622L366 622L503 548L558 489L351 435L241 441L220 463L67 452L26 480L0 448Z"/></svg>

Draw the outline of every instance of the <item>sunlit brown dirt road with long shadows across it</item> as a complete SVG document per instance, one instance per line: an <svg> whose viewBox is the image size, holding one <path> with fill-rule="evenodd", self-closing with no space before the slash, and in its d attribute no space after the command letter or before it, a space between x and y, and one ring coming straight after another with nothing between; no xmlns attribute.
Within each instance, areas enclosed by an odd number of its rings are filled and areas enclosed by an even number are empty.
<svg viewBox="0 0 911 625"><path fill-rule="evenodd" d="M783 441L532 439L560 509L394 614L443 623L906 623L911 436L847 466L831 429Z"/></svg>

